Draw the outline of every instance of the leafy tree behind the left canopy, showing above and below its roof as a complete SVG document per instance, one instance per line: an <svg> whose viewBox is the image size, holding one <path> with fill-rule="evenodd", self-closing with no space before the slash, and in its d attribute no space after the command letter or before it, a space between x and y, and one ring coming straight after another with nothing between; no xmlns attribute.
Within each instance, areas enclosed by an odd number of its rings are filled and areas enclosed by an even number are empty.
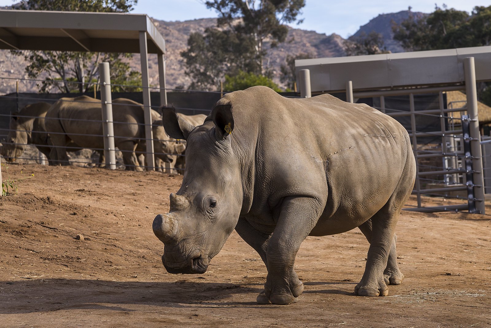
<svg viewBox="0 0 491 328"><path fill-rule="evenodd" d="M137 0L21 0L19 9L55 11L128 12ZM61 92L85 92L98 81L98 64L108 61L113 84L135 85L140 73L128 64L131 54L102 54L91 52L13 51L29 62L30 78L45 75L38 84L39 92L57 89ZM59 81L59 82L58 82ZM138 83L139 84L139 83ZM125 90L125 87L116 87Z"/></svg>

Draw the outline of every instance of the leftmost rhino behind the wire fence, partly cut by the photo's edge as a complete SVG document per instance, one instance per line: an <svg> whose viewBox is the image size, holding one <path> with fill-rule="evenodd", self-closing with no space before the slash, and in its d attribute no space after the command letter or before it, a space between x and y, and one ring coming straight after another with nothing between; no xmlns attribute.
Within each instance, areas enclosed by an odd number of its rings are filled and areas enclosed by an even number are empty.
<svg viewBox="0 0 491 328"><path fill-rule="evenodd" d="M27 144L33 144L49 159L51 141L46 132L44 117L50 107L48 103L37 102L10 115L7 140L1 148L1 154L7 162L19 158Z"/></svg>

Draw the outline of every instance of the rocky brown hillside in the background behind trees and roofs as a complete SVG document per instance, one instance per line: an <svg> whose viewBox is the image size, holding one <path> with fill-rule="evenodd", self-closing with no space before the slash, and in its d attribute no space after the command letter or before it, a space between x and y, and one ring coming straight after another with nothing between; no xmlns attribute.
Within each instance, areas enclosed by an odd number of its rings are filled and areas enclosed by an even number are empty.
<svg viewBox="0 0 491 328"><path fill-rule="evenodd" d="M1 8L1 7L0 7ZM2 8L3 9L3 8ZM394 43L391 37L390 20L396 22L407 17L409 12L399 12L394 14L383 14L371 20L368 24L362 26L355 34L362 30L370 32L376 30L385 37L385 44L392 52L399 52L402 49ZM196 19L184 22L164 22L154 20L157 29L162 33L166 43L166 81L167 87L174 89L186 88L191 80L184 74L183 62L180 53L186 49L188 37L191 32L202 32L207 27L216 25L216 19ZM274 80L279 83L279 67L285 62L287 55L296 55L299 53L310 53L314 58L322 57L339 57L344 56L343 38L337 34L321 34L316 31L307 31L300 29L290 29L287 41L271 51L269 62L273 67ZM131 60L134 69L139 70L139 55L135 55ZM21 78L27 79L25 72L26 62L22 57L12 55L8 50L0 50L0 94L15 91L15 80L4 78ZM158 85L157 58L150 55L150 83ZM20 81L19 90L28 92L36 91L36 83L31 81Z"/></svg>

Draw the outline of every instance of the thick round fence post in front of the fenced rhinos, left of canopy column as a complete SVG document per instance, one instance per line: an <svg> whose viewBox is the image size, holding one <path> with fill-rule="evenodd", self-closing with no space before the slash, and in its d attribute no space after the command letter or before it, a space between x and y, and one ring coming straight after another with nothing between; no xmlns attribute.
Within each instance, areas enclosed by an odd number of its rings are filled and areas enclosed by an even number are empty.
<svg viewBox="0 0 491 328"><path fill-rule="evenodd" d="M112 125L111 80L109 77L109 62L99 64L101 78L102 131L104 138L104 156L106 167L116 169L116 152L114 149L114 127Z"/></svg>

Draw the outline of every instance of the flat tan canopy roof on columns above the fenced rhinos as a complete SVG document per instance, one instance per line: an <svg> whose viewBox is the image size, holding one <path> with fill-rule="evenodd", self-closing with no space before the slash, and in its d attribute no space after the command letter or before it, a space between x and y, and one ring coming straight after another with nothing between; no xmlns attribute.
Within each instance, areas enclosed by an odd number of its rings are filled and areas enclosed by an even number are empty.
<svg viewBox="0 0 491 328"><path fill-rule="evenodd" d="M165 41L145 14L0 10L0 49L165 54Z"/></svg>

